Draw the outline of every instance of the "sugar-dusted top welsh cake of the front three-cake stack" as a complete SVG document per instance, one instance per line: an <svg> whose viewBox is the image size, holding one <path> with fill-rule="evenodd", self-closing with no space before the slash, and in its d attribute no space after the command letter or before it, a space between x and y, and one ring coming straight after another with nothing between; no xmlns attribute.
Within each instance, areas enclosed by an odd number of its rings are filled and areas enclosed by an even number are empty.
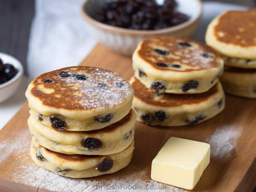
<svg viewBox="0 0 256 192"><path fill-rule="evenodd" d="M58 131L101 129L127 115L134 90L116 73L67 67L44 73L26 90L32 118Z"/></svg>

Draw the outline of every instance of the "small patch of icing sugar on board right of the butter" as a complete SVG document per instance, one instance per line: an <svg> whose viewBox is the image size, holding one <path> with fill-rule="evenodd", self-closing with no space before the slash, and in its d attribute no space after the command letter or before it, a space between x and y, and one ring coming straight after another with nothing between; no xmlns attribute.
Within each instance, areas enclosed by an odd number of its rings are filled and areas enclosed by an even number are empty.
<svg viewBox="0 0 256 192"><path fill-rule="evenodd" d="M211 135L206 141L211 146L211 156L222 158L229 156L235 148L236 138L239 137L241 129L234 126L223 126Z"/></svg>

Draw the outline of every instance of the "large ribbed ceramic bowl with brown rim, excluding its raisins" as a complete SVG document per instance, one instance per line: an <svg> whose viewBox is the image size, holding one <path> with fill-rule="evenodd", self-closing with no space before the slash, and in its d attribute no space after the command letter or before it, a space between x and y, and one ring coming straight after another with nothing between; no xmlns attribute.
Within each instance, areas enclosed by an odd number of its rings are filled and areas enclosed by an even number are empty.
<svg viewBox="0 0 256 192"><path fill-rule="evenodd" d="M85 18L87 29L99 42L128 56L132 55L138 43L145 38L156 36L191 38L202 15L202 2L200 0L176 0L176 10L188 15L189 20L159 30L132 30L104 24L93 18L99 8L105 2L110 1L113 0L86 0L82 5L82 15Z"/></svg>

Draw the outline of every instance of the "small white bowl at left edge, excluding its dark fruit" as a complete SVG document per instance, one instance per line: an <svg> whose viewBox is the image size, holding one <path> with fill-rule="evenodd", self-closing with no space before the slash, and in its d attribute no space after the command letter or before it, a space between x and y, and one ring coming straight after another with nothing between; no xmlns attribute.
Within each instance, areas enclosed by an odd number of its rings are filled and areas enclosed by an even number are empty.
<svg viewBox="0 0 256 192"><path fill-rule="evenodd" d="M21 65L21 62L19 62L16 58L6 53L0 52L0 59L3 60L4 64L6 63L12 64L18 71L17 74L12 79L10 79L9 81L3 84L0 84L0 103L1 103L4 100L7 100L9 97L11 97L15 93L15 91L18 89L23 76L23 67Z"/></svg>

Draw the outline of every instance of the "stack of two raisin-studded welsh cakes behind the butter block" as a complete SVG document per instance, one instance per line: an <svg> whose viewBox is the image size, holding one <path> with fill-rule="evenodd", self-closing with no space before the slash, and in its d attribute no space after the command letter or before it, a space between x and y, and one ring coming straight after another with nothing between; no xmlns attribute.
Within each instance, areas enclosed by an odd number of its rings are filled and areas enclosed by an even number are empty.
<svg viewBox="0 0 256 192"><path fill-rule="evenodd" d="M157 37L140 42L133 56L133 108L150 125L196 124L220 113L225 94L218 78L223 60L209 46Z"/></svg>

